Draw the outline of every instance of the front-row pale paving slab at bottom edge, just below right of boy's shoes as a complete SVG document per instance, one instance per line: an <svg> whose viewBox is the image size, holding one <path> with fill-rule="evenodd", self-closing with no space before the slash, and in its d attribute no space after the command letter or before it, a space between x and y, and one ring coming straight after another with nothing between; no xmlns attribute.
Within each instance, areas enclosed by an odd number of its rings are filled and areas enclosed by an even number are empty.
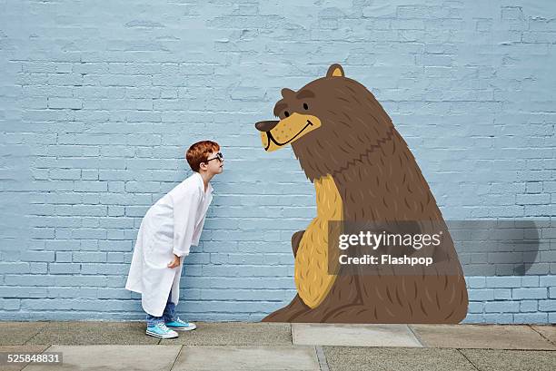
<svg viewBox="0 0 556 371"><path fill-rule="evenodd" d="M320 370L314 347L184 346L172 371Z"/></svg>

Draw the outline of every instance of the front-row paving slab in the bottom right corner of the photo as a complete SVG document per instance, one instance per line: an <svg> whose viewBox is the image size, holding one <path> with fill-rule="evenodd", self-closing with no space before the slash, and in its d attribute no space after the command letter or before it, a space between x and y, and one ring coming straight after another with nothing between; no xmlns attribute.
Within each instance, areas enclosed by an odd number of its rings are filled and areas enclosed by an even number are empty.
<svg viewBox="0 0 556 371"><path fill-rule="evenodd" d="M556 352L540 350L462 349L481 371L553 371Z"/></svg>

